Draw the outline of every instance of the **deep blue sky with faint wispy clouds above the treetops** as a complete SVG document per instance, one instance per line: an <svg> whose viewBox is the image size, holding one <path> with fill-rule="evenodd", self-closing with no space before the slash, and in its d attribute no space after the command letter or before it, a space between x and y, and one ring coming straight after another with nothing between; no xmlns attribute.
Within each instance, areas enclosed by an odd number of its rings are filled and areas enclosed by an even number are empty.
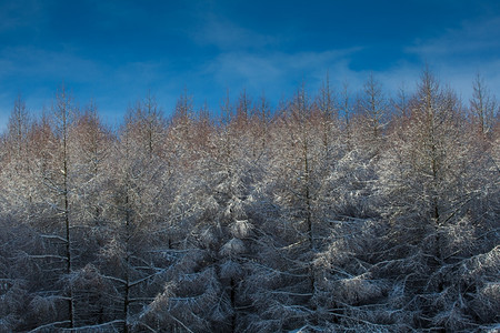
<svg viewBox="0 0 500 333"><path fill-rule="evenodd" d="M109 123L147 95L168 114L184 89L217 113L227 91L271 104L329 72L410 90L427 62L467 101L479 71L500 95L500 1L0 0L0 129L16 97L40 113L62 82Z"/></svg>

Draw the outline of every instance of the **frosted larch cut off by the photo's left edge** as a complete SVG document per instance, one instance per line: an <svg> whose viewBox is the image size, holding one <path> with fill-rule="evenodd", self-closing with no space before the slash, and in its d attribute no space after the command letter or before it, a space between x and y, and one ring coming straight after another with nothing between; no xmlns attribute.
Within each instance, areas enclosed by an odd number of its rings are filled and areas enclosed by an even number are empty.
<svg viewBox="0 0 500 333"><path fill-rule="evenodd" d="M23 265L17 253L30 250L32 229L28 219L33 182L30 174L31 117L19 95L13 104L7 131L0 138L0 331L13 332L26 327L30 302L33 262Z"/></svg>

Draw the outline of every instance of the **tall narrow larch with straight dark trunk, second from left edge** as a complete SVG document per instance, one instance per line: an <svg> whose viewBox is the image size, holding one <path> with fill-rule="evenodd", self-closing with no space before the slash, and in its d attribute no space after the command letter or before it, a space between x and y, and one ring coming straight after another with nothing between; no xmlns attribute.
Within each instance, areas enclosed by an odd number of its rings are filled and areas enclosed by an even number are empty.
<svg viewBox="0 0 500 333"><path fill-rule="evenodd" d="M71 276L76 264L73 238L72 125L77 111L71 94L62 87L56 94L50 117L36 123L30 133L32 181L36 182L28 212L33 240L24 253L39 266L44 283L34 281L30 325L74 327L74 291ZM48 313L48 309L54 311Z"/></svg>

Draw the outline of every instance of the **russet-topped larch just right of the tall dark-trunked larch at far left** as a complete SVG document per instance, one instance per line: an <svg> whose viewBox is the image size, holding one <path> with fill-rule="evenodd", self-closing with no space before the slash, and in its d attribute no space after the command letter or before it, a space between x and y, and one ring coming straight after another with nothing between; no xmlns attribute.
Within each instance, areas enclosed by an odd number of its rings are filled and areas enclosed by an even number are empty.
<svg viewBox="0 0 500 333"><path fill-rule="evenodd" d="M110 165L116 138L102 123L97 105L91 102L74 120L73 139L73 181L74 189L73 223L79 253L79 266L72 274L76 317L79 330L103 324L114 320L110 301L112 283L100 272L99 254L113 232L113 201Z"/></svg>

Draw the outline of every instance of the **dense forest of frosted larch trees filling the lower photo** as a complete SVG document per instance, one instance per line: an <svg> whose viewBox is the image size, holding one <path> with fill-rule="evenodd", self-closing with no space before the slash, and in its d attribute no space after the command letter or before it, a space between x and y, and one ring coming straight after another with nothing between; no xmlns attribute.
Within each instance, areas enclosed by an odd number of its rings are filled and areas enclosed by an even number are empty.
<svg viewBox="0 0 500 333"><path fill-rule="evenodd" d="M496 332L500 122L424 70L392 98L56 92L0 138L1 332Z"/></svg>

